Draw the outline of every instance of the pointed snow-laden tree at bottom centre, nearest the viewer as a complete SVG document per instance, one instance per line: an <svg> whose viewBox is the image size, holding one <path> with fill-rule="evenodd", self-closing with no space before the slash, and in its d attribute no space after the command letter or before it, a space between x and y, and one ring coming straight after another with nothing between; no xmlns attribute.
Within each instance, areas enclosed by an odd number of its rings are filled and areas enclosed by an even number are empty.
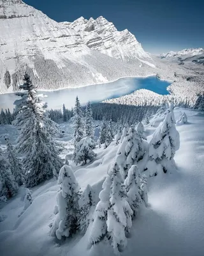
<svg viewBox="0 0 204 256"><path fill-rule="evenodd" d="M108 237L117 254L127 245L126 232L131 228L133 214L126 200L126 189L117 163L114 163L113 168L108 172L99 198L90 240L94 244L103 237Z"/></svg>

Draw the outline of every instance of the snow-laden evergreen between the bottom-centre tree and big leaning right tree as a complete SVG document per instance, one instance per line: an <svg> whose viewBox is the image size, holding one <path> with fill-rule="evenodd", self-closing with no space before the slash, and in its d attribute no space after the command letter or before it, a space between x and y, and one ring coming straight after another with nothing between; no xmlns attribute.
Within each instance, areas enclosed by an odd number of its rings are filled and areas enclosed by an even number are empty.
<svg viewBox="0 0 204 256"><path fill-rule="evenodd" d="M129 128L128 136L124 137L117 151L116 161L124 179L128 176L128 170L134 163L140 161L145 154L145 143L134 129Z"/></svg>

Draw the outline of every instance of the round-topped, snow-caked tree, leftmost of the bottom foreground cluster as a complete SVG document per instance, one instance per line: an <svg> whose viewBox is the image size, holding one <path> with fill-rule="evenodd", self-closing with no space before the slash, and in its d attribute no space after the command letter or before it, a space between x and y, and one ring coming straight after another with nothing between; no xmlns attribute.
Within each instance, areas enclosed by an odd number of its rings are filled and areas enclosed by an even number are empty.
<svg viewBox="0 0 204 256"><path fill-rule="evenodd" d="M71 166L62 166L58 184L60 184L60 191L57 193L57 205L54 208L56 216L51 228L51 235L61 239L62 236L69 237L75 234L80 220L78 205L80 188Z"/></svg>

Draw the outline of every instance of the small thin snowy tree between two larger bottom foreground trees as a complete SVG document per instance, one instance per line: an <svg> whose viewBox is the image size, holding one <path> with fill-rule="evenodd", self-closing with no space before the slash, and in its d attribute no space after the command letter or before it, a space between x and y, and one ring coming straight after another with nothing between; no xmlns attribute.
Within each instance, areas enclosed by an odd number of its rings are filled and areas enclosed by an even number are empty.
<svg viewBox="0 0 204 256"><path fill-rule="evenodd" d="M89 223L92 220L92 214L94 212L95 202L94 202L93 194L94 194L94 191L92 190L92 187L88 184L78 202L80 206L80 213L81 213L79 226L80 226L80 230L82 230L82 232L84 233L89 227Z"/></svg>

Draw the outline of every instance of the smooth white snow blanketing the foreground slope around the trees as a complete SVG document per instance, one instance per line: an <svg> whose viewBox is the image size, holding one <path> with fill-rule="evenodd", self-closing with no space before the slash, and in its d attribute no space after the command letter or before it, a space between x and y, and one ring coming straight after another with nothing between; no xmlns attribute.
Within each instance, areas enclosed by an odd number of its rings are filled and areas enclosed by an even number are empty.
<svg viewBox="0 0 204 256"><path fill-rule="evenodd" d="M180 148L175 154L177 171L161 173L148 180L149 206L141 209L133 220L128 246L122 256L201 256L204 252L204 113L175 108L175 119L180 111L186 113L187 124L177 126ZM69 123L68 123L69 125ZM3 128L3 125L1 125ZM64 124L66 126L66 124ZM11 127L11 128L10 128ZM13 127L0 129L1 135ZM145 135L150 141L155 127L147 125ZM3 143L2 136L0 138ZM106 173L112 167L119 146L113 141L108 148L96 148L96 158L85 166L73 167L78 184L84 190L90 184L98 202L99 191ZM4 146L2 146L4 149ZM17 196L1 203L0 222L1 256L111 256L110 244L102 241L90 248L91 225L84 236L76 234L66 241L50 236L50 223L54 221L54 207L59 185L48 180L32 189L33 203L18 217L24 208L20 200L24 188Z"/></svg>

